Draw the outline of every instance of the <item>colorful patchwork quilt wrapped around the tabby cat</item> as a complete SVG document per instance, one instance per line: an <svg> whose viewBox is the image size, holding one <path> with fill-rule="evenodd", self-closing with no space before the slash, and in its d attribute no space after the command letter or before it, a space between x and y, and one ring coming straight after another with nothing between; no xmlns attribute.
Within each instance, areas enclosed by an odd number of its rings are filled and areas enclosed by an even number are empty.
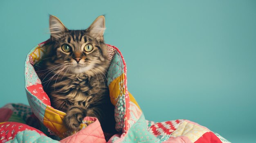
<svg viewBox="0 0 256 143"><path fill-rule="evenodd" d="M47 42L34 47L25 61L25 90L29 106L7 104L0 108L0 143L230 143L217 133L189 120L147 121L128 92L126 63L119 49L108 45L108 87L115 105L116 130L103 133L99 121L85 117L79 132L65 138L64 112L52 108L35 69L45 57Z"/></svg>

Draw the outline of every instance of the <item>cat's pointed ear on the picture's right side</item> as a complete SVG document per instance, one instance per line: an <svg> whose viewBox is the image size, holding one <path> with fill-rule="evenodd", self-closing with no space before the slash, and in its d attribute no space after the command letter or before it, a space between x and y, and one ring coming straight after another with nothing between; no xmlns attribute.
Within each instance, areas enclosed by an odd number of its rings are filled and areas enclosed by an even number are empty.
<svg viewBox="0 0 256 143"><path fill-rule="evenodd" d="M94 37L98 41L103 41L103 33L105 31L105 17L103 15L99 16L94 20L94 22L86 29L86 32L90 36Z"/></svg>

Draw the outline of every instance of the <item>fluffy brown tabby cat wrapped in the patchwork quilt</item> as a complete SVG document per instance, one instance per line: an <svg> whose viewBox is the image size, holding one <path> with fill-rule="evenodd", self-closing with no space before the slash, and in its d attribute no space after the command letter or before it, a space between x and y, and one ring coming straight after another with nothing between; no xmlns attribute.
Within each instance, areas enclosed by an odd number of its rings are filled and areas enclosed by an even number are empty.
<svg viewBox="0 0 256 143"><path fill-rule="evenodd" d="M86 30L69 30L50 15L48 56L41 76L52 107L66 112L65 126L79 130L86 116L97 117L104 132L115 132L106 73L110 65L103 41L105 18L99 16Z"/></svg>

